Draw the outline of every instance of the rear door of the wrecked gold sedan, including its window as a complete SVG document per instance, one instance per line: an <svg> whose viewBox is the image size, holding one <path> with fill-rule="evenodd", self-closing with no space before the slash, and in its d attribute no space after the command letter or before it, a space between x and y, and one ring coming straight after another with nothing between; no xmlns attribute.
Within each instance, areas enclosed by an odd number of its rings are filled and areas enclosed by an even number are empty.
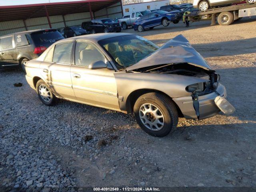
<svg viewBox="0 0 256 192"><path fill-rule="evenodd" d="M56 44L40 64L41 74L52 92L61 98L76 100L70 77L74 41Z"/></svg>

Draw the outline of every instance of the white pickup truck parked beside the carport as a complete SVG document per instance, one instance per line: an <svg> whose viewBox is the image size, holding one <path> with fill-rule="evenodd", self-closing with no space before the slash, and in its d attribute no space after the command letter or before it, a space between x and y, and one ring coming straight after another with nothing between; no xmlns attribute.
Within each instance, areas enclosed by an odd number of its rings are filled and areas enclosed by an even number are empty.
<svg viewBox="0 0 256 192"><path fill-rule="evenodd" d="M133 23L138 20L142 15L148 14L150 11L142 11L142 12L134 12L130 14L129 16L124 16L121 19L118 19L118 22L122 26L122 29L127 29L128 26L133 26Z"/></svg>

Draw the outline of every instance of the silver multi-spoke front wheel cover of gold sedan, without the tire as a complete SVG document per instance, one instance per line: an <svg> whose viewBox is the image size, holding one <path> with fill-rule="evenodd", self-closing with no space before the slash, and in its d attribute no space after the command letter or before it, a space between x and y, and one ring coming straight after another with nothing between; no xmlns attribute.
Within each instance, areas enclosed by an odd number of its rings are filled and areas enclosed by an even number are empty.
<svg viewBox="0 0 256 192"><path fill-rule="evenodd" d="M140 120L146 128L152 131L159 131L164 126L162 112L158 107L150 103L140 106Z"/></svg>

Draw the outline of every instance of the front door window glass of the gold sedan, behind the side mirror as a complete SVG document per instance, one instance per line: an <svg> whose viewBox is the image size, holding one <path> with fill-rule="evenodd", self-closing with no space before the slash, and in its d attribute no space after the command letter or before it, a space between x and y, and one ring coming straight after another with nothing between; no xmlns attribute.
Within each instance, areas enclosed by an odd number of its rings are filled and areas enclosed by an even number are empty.
<svg viewBox="0 0 256 192"><path fill-rule="evenodd" d="M91 63L97 61L105 61L105 56L95 46L85 42L76 42L76 65L88 67Z"/></svg>

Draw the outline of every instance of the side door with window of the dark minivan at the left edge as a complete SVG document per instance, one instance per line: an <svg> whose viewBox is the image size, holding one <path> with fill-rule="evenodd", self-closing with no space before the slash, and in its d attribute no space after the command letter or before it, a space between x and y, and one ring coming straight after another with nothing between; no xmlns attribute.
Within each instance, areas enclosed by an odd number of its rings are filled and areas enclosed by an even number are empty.
<svg viewBox="0 0 256 192"><path fill-rule="evenodd" d="M13 39L14 35L0 38L0 66L18 65Z"/></svg>

